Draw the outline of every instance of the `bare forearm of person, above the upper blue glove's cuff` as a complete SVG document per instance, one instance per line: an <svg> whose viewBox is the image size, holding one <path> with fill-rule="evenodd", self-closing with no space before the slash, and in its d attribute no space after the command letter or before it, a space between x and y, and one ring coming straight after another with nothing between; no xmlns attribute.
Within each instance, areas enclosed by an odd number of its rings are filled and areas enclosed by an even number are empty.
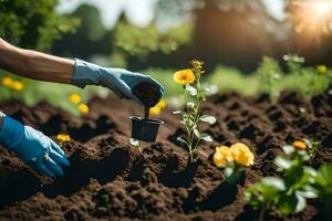
<svg viewBox="0 0 332 221"><path fill-rule="evenodd" d="M13 46L0 39L0 69L48 82L71 83L75 61Z"/></svg>

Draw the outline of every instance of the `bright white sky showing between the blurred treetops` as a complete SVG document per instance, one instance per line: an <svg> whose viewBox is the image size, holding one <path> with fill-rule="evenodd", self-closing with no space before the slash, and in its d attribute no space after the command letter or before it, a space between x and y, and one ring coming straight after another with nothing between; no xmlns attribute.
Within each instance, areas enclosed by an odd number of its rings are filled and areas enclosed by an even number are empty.
<svg viewBox="0 0 332 221"><path fill-rule="evenodd" d="M71 12L81 3L90 3L97 7L102 13L102 20L108 28L114 27L121 12L125 13L131 22L138 27L147 25L154 18L154 4L158 0L60 0L58 10ZM278 20L283 20L283 0L261 0L268 12Z"/></svg>

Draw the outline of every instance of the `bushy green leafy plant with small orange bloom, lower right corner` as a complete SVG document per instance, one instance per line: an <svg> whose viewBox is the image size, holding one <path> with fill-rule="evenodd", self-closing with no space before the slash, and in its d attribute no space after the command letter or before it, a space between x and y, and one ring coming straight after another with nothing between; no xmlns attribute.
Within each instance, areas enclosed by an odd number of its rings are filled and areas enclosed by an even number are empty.
<svg viewBox="0 0 332 221"><path fill-rule="evenodd" d="M304 146L302 143L287 145L282 148L286 156L276 158L274 164L283 173L283 179L264 177L247 189L249 204L253 209L261 209L260 220L263 220L267 211L279 211L284 217L301 212L307 199L318 197L314 188L317 171L305 166L310 156Z"/></svg>

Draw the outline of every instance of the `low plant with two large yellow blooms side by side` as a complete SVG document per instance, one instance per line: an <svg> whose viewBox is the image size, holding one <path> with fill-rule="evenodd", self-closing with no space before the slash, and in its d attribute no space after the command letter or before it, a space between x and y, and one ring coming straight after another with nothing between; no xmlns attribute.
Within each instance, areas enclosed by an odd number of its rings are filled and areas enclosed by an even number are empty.
<svg viewBox="0 0 332 221"><path fill-rule="evenodd" d="M214 162L224 169L228 181L237 182L243 168L253 165L255 156L249 147L242 143L236 143L230 147L216 147Z"/></svg>

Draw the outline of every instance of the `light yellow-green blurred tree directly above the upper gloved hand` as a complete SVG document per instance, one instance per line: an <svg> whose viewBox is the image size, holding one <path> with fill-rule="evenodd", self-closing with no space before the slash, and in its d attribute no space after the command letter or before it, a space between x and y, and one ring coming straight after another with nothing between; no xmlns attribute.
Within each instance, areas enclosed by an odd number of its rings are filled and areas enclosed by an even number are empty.
<svg viewBox="0 0 332 221"><path fill-rule="evenodd" d="M122 14L114 29L112 63L116 61L122 66L128 65L135 70L148 66L174 66L177 63L174 60L175 54L190 44L191 31L189 24L160 31L155 22L146 28L138 28Z"/></svg>

